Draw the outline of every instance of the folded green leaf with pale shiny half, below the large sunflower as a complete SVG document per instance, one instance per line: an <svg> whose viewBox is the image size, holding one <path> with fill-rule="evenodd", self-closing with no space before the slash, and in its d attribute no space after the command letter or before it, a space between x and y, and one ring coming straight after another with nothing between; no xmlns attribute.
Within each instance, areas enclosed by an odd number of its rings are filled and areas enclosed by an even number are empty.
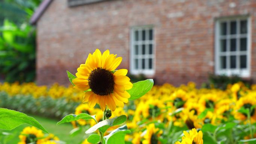
<svg viewBox="0 0 256 144"><path fill-rule="evenodd" d="M112 119L106 119L103 120L96 125L89 128L85 134L91 134L92 132L95 132L97 129L99 129L102 133L106 132L108 128L111 126L121 125L126 121L127 117L125 115L114 117Z"/></svg>

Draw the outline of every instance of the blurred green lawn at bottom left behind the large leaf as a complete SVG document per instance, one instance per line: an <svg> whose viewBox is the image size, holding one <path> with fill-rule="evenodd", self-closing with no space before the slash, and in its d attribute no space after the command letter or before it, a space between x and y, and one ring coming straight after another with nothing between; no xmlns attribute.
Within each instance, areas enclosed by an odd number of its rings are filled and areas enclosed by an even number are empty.
<svg viewBox="0 0 256 144"><path fill-rule="evenodd" d="M30 115L31 116L31 115ZM69 132L73 129L70 123L63 123L61 125L56 125L58 120L49 119L40 116L32 116L38 120L43 127L49 132L60 138L61 141L66 142L66 144L80 144L84 140L84 131L80 132L74 137L71 137ZM19 142L19 133L29 125L21 125L12 131L0 130L0 144L17 144ZM3 132L7 132L10 135L2 135Z"/></svg>

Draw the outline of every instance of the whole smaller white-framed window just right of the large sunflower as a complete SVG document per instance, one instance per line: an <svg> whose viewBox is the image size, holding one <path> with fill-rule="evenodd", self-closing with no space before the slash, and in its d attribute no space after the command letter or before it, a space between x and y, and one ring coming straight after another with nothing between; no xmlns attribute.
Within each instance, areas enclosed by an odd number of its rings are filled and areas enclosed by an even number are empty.
<svg viewBox="0 0 256 144"><path fill-rule="evenodd" d="M130 70L132 74L152 75L155 73L153 27L134 27L131 29Z"/></svg>

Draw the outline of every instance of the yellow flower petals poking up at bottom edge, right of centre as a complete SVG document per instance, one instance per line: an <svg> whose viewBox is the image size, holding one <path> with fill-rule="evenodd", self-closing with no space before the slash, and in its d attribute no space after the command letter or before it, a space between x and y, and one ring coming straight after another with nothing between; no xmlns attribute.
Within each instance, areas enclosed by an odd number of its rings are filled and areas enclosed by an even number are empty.
<svg viewBox="0 0 256 144"><path fill-rule="evenodd" d="M203 144L202 131L197 132L195 128L192 131L183 131L182 144Z"/></svg>

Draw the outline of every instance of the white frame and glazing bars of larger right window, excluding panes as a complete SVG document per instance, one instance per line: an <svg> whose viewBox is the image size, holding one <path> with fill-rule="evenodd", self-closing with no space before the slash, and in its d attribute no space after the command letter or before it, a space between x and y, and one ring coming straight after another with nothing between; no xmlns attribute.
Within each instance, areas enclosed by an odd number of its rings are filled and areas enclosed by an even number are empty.
<svg viewBox="0 0 256 144"><path fill-rule="evenodd" d="M241 21L241 20L247 20L247 34L240 34L240 22L237 22L237 34L231 35L229 34L229 28L230 26L230 22L231 21ZM220 36L220 24L221 22L227 22L227 33L226 36ZM229 42L230 40L226 41L226 53L225 56L230 56L232 55L241 55L241 54L245 54L247 56L247 67L240 69L240 61L238 61L238 57L236 56L236 65L237 68L229 68L230 65L230 59L229 57L226 57L226 69L222 70L220 68L220 39L221 37L226 37L226 39L230 39L230 38L236 38L236 39L240 39L240 37L246 37L247 38L247 51L245 52L240 52L238 50L234 51L234 52L230 52L229 48ZM236 40L236 46L237 49L240 49L240 41ZM219 18L217 19L217 21L215 22L215 74L217 75L226 75L226 76L232 76L232 75L237 75L240 77L250 77L251 75L251 47L252 47L252 43L251 43L251 18L249 16L235 16L235 17L230 17L230 18Z"/></svg>

